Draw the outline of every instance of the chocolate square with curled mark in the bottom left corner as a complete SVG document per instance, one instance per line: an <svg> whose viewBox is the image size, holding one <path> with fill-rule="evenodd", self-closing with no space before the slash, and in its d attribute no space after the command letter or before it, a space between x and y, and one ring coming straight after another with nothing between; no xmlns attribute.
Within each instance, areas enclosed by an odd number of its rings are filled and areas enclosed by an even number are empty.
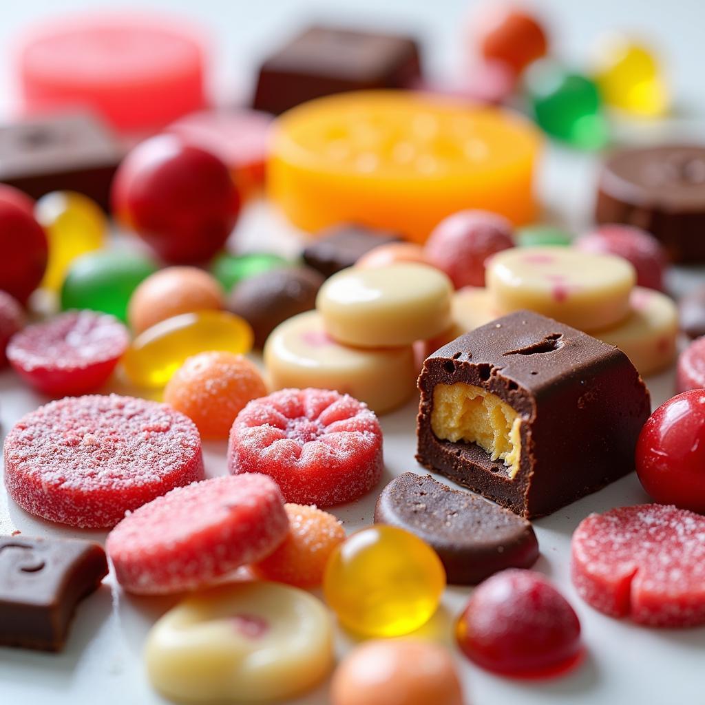
<svg viewBox="0 0 705 705"><path fill-rule="evenodd" d="M0 644L59 651L76 606L107 574L93 541L0 537Z"/></svg>

